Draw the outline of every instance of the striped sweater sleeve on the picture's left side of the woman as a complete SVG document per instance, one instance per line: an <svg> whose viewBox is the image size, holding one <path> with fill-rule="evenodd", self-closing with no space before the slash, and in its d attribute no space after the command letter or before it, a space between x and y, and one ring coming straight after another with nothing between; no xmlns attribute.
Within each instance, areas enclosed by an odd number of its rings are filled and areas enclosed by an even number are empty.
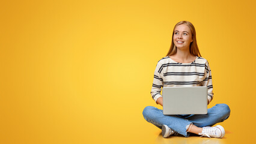
<svg viewBox="0 0 256 144"><path fill-rule="evenodd" d="M156 70L154 70L154 79L153 79L153 85L151 89L151 97L154 101L156 101L159 97L162 97L161 91L163 87L163 75L161 74L162 70L162 64L159 62L156 65Z"/></svg>

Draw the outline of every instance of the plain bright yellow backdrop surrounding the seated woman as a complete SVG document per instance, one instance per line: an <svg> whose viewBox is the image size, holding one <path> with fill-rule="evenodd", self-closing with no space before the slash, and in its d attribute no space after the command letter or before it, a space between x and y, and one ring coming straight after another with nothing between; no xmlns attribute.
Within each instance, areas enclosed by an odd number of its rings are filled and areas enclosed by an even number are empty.
<svg viewBox="0 0 256 144"><path fill-rule="evenodd" d="M157 106L150 96L154 69L181 20L195 25L212 69L210 107L231 108L221 142L249 143L255 6L249 0L1 1L0 143L171 142L142 110Z"/></svg>

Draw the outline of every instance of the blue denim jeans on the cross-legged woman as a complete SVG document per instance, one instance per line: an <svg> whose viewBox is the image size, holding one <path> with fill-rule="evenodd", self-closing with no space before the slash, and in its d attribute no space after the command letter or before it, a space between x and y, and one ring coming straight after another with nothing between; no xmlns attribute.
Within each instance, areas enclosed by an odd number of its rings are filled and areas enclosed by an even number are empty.
<svg viewBox="0 0 256 144"><path fill-rule="evenodd" d="M188 137L187 128L190 124L194 124L197 127L206 127L223 122L230 116L230 107L227 104L216 104L208 109L206 115L163 115L163 110L147 106L143 110L143 116L146 121L156 125L158 128L162 128L162 125L167 125L177 133Z"/></svg>

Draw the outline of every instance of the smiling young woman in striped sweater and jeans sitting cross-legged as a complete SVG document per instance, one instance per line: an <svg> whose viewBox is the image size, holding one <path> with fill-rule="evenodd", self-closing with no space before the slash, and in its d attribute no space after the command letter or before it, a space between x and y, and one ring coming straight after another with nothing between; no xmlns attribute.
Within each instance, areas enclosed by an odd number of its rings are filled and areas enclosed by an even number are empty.
<svg viewBox="0 0 256 144"><path fill-rule="evenodd" d="M208 104L213 99L212 74L209 63L202 58L197 46L195 28L187 21L178 22L172 32L172 43L166 57L160 59L154 71L151 96L163 106L160 92L162 87L207 86ZM222 138L225 130L221 125L209 127L225 121L230 116L227 104L216 104L206 115L163 115L163 110L147 106L143 110L146 121L162 128L163 137L174 133L185 137L189 133L200 136ZM189 132L189 133L188 133Z"/></svg>

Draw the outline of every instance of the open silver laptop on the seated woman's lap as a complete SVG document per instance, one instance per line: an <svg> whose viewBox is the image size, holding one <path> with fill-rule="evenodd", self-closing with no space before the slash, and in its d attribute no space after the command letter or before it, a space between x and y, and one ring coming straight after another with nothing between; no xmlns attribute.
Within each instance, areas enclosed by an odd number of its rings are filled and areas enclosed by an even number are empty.
<svg viewBox="0 0 256 144"><path fill-rule="evenodd" d="M163 115L207 114L207 86L163 87Z"/></svg>

